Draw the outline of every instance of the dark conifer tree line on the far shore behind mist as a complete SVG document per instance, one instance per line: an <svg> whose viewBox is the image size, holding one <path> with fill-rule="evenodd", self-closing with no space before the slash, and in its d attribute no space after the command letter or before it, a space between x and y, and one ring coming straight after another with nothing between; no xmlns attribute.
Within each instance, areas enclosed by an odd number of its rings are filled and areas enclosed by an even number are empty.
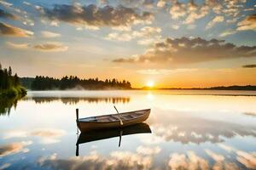
<svg viewBox="0 0 256 170"><path fill-rule="evenodd" d="M52 90L52 89L131 89L131 82L106 79L105 81L98 78L80 79L79 77L54 77L37 76L35 78L21 78L22 84L29 86L32 90Z"/></svg>

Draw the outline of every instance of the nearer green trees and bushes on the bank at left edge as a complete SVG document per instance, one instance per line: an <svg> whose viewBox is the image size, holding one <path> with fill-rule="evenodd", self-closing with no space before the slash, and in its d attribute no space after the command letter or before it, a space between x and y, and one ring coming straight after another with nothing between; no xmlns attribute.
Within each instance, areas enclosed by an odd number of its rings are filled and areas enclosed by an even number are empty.
<svg viewBox="0 0 256 170"><path fill-rule="evenodd" d="M0 63L0 94L9 95L11 97L18 94L26 94L26 89L20 86L20 78L17 73L13 75L12 68L2 68Z"/></svg>

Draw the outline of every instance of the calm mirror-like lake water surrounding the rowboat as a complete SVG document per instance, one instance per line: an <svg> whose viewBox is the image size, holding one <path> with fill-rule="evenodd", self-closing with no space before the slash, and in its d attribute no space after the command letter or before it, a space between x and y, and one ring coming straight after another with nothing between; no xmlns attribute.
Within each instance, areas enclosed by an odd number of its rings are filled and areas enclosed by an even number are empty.
<svg viewBox="0 0 256 170"><path fill-rule="evenodd" d="M29 92L1 110L0 169L256 169L255 95L207 90ZM111 114L113 103L119 112L151 108L148 125L126 130L133 134L122 135L120 147L119 135L104 131L90 133L77 148L75 109L80 117ZM90 141L94 139L101 140Z"/></svg>

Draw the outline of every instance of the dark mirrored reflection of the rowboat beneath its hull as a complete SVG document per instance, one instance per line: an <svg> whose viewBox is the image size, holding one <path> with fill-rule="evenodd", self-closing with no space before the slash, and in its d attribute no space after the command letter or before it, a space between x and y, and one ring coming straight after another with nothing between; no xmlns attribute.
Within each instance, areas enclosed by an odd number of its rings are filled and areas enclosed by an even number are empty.
<svg viewBox="0 0 256 170"><path fill-rule="evenodd" d="M79 134L77 141L76 156L79 156L79 144L84 144L96 140L110 139L119 136L119 147L121 144L121 138L125 135L137 134L137 133L151 133L151 129L147 123L138 123L129 127L113 128L106 130L94 130L87 131Z"/></svg>

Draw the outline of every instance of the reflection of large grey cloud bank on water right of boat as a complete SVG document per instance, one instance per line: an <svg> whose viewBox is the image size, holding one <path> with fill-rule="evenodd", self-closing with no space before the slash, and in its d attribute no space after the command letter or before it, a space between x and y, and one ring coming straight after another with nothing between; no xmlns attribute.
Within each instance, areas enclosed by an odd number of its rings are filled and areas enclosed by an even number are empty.
<svg viewBox="0 0 256 170"><path fill-rule="evenodd" d="M165 113L163 115L160 112L157 115L156 119L158 120L151 123L153 133L166 141L200 144L223 142L224 138L230 139L236 135L256 137L256 127L249 125L184 116L182 113Z"/></svg>

